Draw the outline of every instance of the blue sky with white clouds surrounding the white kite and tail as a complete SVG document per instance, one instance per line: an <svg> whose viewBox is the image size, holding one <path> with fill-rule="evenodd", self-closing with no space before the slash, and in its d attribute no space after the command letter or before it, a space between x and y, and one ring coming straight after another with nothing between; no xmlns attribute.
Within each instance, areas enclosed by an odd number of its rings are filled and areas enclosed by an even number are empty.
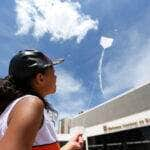
<svg viewBox="0 0 150 150"><path fill-rule="evenodd" d="M56 66L57 92L47 97L49 102L61 117L92 108L150 81L149 13L148 0L5 0L0 5L0 76L7 75L18 50L63 57L65 63ZM113 39L105 50L102 36Z"/></svg>

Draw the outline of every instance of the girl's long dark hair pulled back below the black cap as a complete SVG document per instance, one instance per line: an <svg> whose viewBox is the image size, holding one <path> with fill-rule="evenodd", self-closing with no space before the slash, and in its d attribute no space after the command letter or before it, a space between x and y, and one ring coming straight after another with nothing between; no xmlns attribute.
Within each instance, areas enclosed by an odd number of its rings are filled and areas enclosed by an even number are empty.
<svg viewBox="0 0 150 150"><path fill-rule="evenodd" d="M44 74L45 71L46 68L41 70L40 73ZM38 96L43 101L47 111L52 111L57 114L57 111L51 106L51 104L33 90L31 82L36 74L37 73L19 81L13 79L11 76L0 78L0 114L12 101L27 94Z"/></svg>

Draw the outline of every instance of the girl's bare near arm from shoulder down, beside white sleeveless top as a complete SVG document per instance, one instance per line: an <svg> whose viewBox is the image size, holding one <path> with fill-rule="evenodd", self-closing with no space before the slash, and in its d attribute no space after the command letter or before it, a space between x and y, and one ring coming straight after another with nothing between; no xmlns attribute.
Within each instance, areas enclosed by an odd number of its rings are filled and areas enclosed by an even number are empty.
<svg viewBox="0 0 150 150"><path fill-rule="evenodd" d="M42 123L44 104L37 97L26 97L13 108L8 128L0 140L0 150L31 150Z"/></svg>

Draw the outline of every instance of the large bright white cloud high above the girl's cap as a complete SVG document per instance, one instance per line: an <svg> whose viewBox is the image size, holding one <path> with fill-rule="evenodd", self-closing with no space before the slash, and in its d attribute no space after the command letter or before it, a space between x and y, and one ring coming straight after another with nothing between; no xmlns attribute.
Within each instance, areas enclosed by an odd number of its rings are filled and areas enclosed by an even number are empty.
<svg viewBox="0 0 150 150"><path fill-rule="evenodd" d="M48 33L50 40L68 40L76 37L79 43L98 21L81 13L78 2L61 0L16 0L17 34L30 31L36 38Z"/></svg>

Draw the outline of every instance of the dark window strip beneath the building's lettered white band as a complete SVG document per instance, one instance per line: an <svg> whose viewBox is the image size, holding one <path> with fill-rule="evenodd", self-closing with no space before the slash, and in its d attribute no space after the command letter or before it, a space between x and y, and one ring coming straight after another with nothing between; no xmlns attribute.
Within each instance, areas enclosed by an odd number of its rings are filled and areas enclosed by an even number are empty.
<svg viewBox="0 0 150 150"><path fill-rule="evenodd" d="M150 126L88 137L89 150L150 150Z"/></svg>

